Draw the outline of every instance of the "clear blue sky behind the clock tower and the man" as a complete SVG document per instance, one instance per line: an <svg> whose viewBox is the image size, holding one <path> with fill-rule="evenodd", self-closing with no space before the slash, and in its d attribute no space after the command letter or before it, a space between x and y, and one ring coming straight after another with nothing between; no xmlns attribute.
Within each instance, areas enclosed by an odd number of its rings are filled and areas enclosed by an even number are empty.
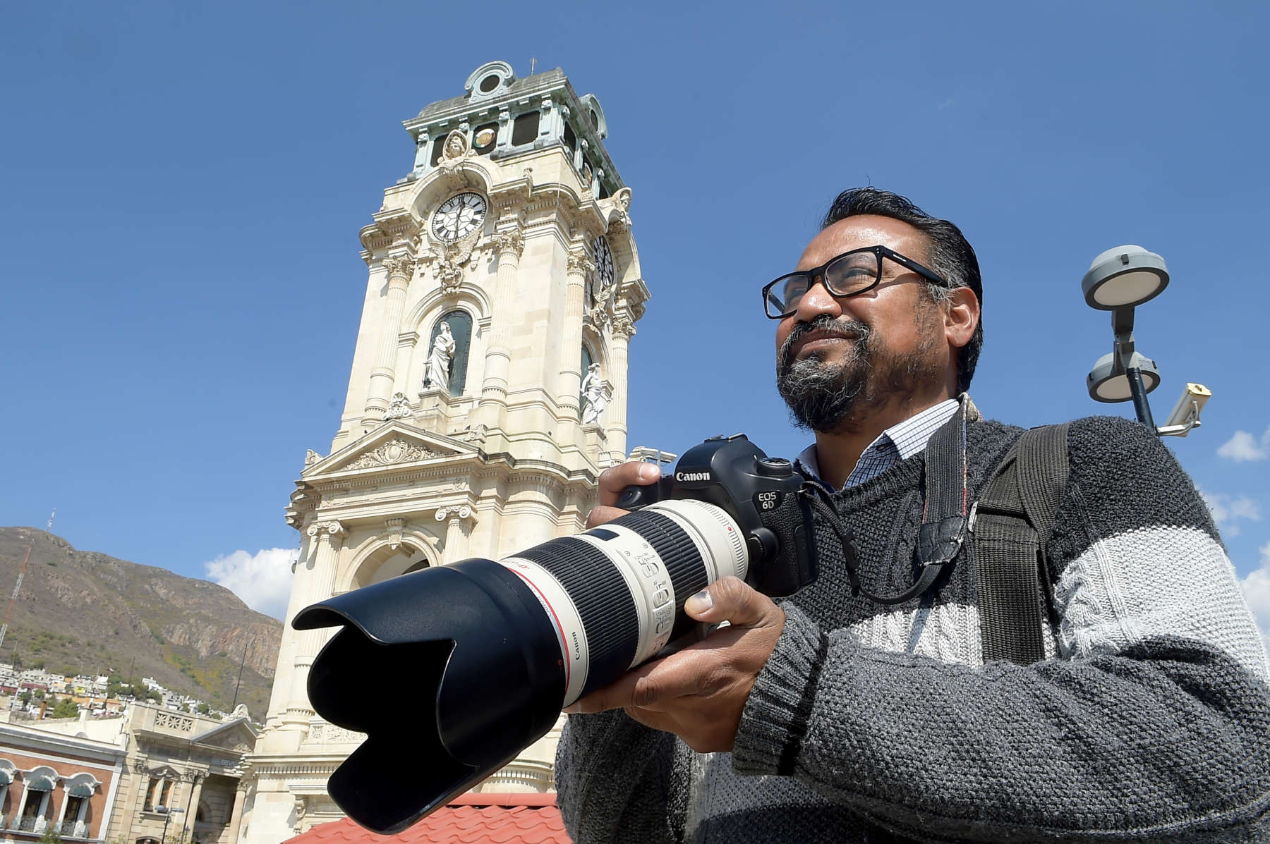
<svg viewBox="0 0 1270 844"><path fill-rule="evenodd" d="M758 288L841 189L959 223L984 274L972 393L1096 412L1080 280L1161 253L1139 308L1171 440L1270 630L1265 4L20 4L0 30L0 524L212 576L277 612L282 510L338 424L357 231L413 161L400 121L480 63L603 103L653 292L630 444L744 430L796 453ZM211 565L211 567L210 567ZM0 584L0 589L8 586ZM273 602L273 603L269 603Z"/></svg>

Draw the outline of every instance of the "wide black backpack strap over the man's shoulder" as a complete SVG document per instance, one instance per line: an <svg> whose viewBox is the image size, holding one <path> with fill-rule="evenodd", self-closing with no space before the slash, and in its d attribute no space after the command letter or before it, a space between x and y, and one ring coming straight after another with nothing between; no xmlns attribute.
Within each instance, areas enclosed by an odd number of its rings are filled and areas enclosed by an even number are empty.
<svg viewBox="0 0 1270 844"><path fill-rule="evenodd" d="M973 531L984 661L1045 657L1052 586L1044 547L1067 473L1067 425L1033 428L979 496Z"/></svg>

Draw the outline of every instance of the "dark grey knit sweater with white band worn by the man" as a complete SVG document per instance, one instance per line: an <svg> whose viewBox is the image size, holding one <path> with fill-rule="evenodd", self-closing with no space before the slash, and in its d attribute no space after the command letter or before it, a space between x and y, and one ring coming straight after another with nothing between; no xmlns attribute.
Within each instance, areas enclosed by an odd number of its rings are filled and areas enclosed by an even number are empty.
<svg viewBox="0 0 1270 844"><path fill-rule="evenodd" d="M1020 433L968 426L972 496ZM880 607L818 528L733 753L569 717L574 840L1270 841L1270 666L1206 508L1135 423L1078 420L1069 454L1046 660L983 663L973 550L933 599ZM912 583L923 468L834 496L876 594Z"/></svg>

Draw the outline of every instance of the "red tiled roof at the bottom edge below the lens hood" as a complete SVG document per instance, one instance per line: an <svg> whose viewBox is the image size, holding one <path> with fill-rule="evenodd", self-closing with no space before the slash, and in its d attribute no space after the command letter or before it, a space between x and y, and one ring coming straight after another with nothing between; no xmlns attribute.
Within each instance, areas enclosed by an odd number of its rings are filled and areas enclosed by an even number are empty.
<svg viewBox="0 0 1270 844"><path fill-rule="evenodd" d="M570 844L555 795L460 795L396 835L349 819L319 824L284 844Z"/></svg>

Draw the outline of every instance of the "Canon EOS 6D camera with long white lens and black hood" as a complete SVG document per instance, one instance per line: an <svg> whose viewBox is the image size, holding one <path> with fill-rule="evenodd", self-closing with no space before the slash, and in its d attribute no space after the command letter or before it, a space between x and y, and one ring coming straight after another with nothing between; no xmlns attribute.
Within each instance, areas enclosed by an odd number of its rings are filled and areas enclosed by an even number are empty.
<svg viewBox="0 0 1270 844"><path fill-rule="evenodd" d="M326 721L367 734L331 774L349 817L396 833L484 779L560 709L691 631L690 595L726 576L772 595L815 577L801 475L744 435L688 449L627 487L631 513L498 561L471 558L302 609L297 630L342 626L309 674ZM405 678L403 723L366 706L366 678ZM385 777L406 768L409 777Z"/></svg>

